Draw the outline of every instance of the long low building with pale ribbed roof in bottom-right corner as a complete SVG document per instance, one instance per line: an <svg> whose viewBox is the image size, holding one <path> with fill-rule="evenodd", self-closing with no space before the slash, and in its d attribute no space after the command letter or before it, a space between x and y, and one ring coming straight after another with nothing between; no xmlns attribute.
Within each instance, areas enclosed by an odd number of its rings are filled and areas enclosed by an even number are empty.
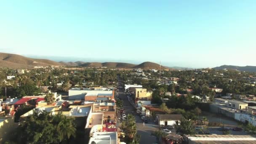
<svg viewBox="0 0 256 144"><path fill-rule="evenodd" d="M185 144L255 144L250 135L193 135L184 136Z"/></svg>

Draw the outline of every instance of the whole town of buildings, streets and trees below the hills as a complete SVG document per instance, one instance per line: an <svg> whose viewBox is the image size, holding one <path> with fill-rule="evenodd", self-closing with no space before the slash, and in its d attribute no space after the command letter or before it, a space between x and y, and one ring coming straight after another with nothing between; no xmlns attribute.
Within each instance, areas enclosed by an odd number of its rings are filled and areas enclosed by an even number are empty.
<svg viewBox="0 0 256 144"><path fill-rule="evenodd" d="M0 69L0 143L247 144L256 73L233 69Z"/></svg>

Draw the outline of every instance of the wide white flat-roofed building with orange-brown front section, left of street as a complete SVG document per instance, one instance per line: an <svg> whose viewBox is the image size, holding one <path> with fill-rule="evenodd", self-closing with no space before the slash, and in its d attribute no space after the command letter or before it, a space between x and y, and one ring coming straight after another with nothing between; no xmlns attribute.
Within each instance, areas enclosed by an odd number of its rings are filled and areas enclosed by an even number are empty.
<svg viewBox="0 0 256 144"><path fill-rule="evenodd" d="M72 88L69 90L69 100L97 101L98 97L114 99L112 88Z"/></svg>

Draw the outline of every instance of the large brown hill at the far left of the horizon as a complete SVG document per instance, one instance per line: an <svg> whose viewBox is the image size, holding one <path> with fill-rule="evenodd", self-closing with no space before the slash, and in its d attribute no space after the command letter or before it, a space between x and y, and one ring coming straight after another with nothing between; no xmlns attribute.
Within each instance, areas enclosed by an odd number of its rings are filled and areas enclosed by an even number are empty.
<svg viewBox="0 0 256 144"><path fill-rule="evenodd" d="M29 68L34 66L61 66L63 64L48 59L31 59L25 56L10 53L0 53L0 67Z"/></svg>

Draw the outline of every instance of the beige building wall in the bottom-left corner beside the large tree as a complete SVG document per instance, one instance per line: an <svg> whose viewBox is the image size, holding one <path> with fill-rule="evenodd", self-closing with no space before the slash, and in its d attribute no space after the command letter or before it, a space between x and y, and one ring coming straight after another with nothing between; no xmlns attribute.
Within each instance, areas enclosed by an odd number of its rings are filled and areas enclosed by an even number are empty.
<svg viewBox="0 0 256 144"><path fill-rule="evenodd" d="M0 117L1 119L1 117ZM18 123L14 123L14 117L10 117L0 123L0 144L8 140L8 136L18 127Z"/></svg>

